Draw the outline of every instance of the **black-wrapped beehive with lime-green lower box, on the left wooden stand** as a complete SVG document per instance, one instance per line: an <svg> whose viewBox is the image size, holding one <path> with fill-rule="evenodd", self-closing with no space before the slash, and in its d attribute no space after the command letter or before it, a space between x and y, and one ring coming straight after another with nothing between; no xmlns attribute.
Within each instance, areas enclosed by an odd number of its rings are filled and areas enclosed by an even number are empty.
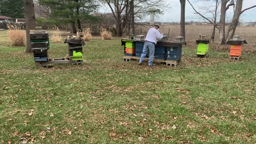
<svg viewBox="0 0 256 144"><path fill-rule="evenodd" d="M68 43L70 60L83 60L83 46L85 42L82 38L66 38L64 43Z"/></svg>

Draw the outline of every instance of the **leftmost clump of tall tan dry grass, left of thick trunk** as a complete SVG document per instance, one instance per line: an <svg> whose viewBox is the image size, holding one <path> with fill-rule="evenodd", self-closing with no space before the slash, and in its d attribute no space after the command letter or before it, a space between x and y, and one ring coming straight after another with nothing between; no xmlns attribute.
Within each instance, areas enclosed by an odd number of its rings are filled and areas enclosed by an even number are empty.
<svg viewBox="0 0 256 144"><path fill-rule="evenodd" d="M11 46L25 46L26 45L26 32L24 27L21 27L20 24L10 24L7 23L8 27L8 37L10 39Z"/></svg>

